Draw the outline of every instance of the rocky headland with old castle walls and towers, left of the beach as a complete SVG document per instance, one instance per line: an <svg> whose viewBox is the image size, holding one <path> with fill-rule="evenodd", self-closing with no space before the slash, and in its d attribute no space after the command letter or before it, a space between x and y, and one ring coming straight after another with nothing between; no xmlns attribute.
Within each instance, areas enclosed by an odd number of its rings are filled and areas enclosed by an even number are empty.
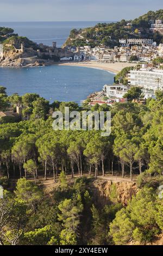
<svg viewBox="0 0 163 256"><path fill-rule="evenodd" d="M36 44L24 36L14 34L13 29L0 27L0 66L28 67L45 66L59 62L61 57L73 57L65 48Z"/></svg>

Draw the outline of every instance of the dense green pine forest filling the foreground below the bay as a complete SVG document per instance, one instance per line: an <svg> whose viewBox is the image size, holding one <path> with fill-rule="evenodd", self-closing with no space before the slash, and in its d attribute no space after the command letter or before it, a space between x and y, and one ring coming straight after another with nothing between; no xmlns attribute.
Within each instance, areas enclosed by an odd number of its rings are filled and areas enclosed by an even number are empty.
<svg viewBox="0 0 163 256"><path fill-rule="evenodd" d="M163 209L157 188L163 181L163 93L156 92L156 100L145 104L131 102L140 95L130 90L128 102L110 109L87 102L81 107L74 102L50 105L37 94L8 96L0 88L1 111L22 104L24 118L17 123L0 119L0 185L5 188L0 199L1 244L120 245L131 239L145 243L161 233ZM111 135L54 131L52 112L64 113L65 106L80 112L111 110ZM140 192L127 207L117 202L114 185L110 202L97 204L91 182L106 174L131 179L140 174ZM53 178L58 186L49 193L40 178Z"/></svg>

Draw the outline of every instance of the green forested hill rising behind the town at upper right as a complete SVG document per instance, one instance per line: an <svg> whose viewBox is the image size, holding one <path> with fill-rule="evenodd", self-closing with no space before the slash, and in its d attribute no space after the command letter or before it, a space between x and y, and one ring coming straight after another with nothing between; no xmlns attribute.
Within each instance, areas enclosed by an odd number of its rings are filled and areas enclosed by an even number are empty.
<svg viewBox="0 0 163 256"><path fill-rule="evenodd" d="M149 21L163 20L163 9L156 12L149 11L135 20L122 20L116 23L98 23L95 27L84 29L73 29L65 45L92 47L102 44L114 47L121 38L151 38L156 42L163 42L161 34L152 33Z"/></svg>

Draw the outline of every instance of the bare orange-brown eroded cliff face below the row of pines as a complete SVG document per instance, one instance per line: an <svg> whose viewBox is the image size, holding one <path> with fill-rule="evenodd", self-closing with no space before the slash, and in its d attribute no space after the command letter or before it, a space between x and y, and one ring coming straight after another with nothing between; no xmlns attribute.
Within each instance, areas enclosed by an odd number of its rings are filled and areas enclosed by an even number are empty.
<svg viewBox="0 0 163 256"><path fill-rule="evenodd" d="M136 183L129 181L110 181L110 180L95 180L92 183L92 191L95 202L104 206L109 203L109 195L112 189L112 184L115 184L117 201L126 206L129 200L137 193Z"/></svg>

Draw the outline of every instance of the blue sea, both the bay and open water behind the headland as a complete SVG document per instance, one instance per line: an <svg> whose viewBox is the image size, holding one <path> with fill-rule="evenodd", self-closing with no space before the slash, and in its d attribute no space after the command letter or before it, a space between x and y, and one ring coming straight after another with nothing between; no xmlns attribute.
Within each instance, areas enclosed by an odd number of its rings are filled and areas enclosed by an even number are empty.
<svg viewBox="0 0 163 256"><path fill-rule="evenodd" d="M71 29L95 26L103 21L71 22L0 22L0 27L11 27L15 33L30 40L51 46L53 41L61 47ZM112 83L114 74L100 69L78 66L45 66L37 68L0 68L0 85L7 88L8 95L38 93L53 102L75 101L81 103L86 97L106 83Z"/></svg>

